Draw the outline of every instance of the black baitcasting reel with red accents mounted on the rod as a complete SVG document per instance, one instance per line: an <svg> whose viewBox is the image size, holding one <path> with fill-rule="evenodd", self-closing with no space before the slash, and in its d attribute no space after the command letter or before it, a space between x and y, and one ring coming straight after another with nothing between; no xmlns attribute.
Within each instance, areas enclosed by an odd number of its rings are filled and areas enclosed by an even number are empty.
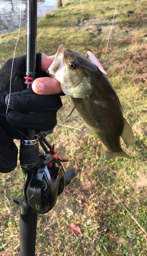
<svg viewBox="0 0 147 256"><path fill-rule="evenodd" d="M46 214L56 203L57 197L61 195L64 187L68 185L75 176L73 170L66 170L60 161L68 161L58 157L54 151L54 145L48 143L43 133L38 135L45 154L40 153L40 167L27 186L27 202L39 214ZM45 144L49 147L47 150Z"/></svg>

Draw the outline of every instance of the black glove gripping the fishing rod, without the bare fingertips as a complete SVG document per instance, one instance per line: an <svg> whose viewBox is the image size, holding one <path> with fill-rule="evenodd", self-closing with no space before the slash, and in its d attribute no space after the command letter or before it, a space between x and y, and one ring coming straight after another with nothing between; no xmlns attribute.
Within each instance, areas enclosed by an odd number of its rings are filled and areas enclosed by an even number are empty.
<svg viewBox="0 0 147 256"><path fill-rule="evenodd" d="M37 53L36 76L47 77L41 70L41 53ZM8 173L16 167L18 149L13 139L24 137L24 129L33 129L36 134L53 130L56 112L62 107L61 94L38 95L32 89L25 89L25 55L15 58L12 73L12 59L0 69L0 172Z"/></svg>

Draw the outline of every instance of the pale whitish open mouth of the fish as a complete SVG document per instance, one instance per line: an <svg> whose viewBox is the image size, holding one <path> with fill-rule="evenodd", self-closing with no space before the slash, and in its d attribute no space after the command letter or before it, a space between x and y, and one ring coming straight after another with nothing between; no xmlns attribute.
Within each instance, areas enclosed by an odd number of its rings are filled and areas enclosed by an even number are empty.
<svg viewBox="0 0 147 256"><path fill-rule="evenodd" d="M55 73L57 73L57 71L60 69L63 57L64 57L64 52L65 52L65 48L63 47L63 45L60 45L57 49L57 52L55 54L55 59L52 62L51 66L49 67L49 73L51 75L54 75Z"/></svg>

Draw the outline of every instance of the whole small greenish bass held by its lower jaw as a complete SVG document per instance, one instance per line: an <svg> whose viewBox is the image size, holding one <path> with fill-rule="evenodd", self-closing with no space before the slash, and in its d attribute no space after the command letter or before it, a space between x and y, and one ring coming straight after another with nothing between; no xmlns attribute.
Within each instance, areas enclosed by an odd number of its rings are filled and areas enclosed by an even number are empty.
<svg viewBox="0 0 147 256"><path fill-rule="evenodd" d="M79 113L86 124L86 133L97 136L105 145L106 159L131 159L122 150L120 137L129 146L133 131L123 116L119 97L101 70L79 52L60 45L46 72L60 81L62 91L71 97L71 113L74 116Z"/></svg>

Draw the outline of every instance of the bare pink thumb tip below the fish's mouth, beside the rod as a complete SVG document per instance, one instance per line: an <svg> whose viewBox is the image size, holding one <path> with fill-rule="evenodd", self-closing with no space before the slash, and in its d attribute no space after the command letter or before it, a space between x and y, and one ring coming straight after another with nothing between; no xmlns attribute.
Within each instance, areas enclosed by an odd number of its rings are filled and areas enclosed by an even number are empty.
<svg viewBox="0 0 147 256"><path fill-rule="evenodd" d="M58 94L62 92L60 82L52 77L37 78L32 84L32 89L35 93L41 95Z"/></svg>

